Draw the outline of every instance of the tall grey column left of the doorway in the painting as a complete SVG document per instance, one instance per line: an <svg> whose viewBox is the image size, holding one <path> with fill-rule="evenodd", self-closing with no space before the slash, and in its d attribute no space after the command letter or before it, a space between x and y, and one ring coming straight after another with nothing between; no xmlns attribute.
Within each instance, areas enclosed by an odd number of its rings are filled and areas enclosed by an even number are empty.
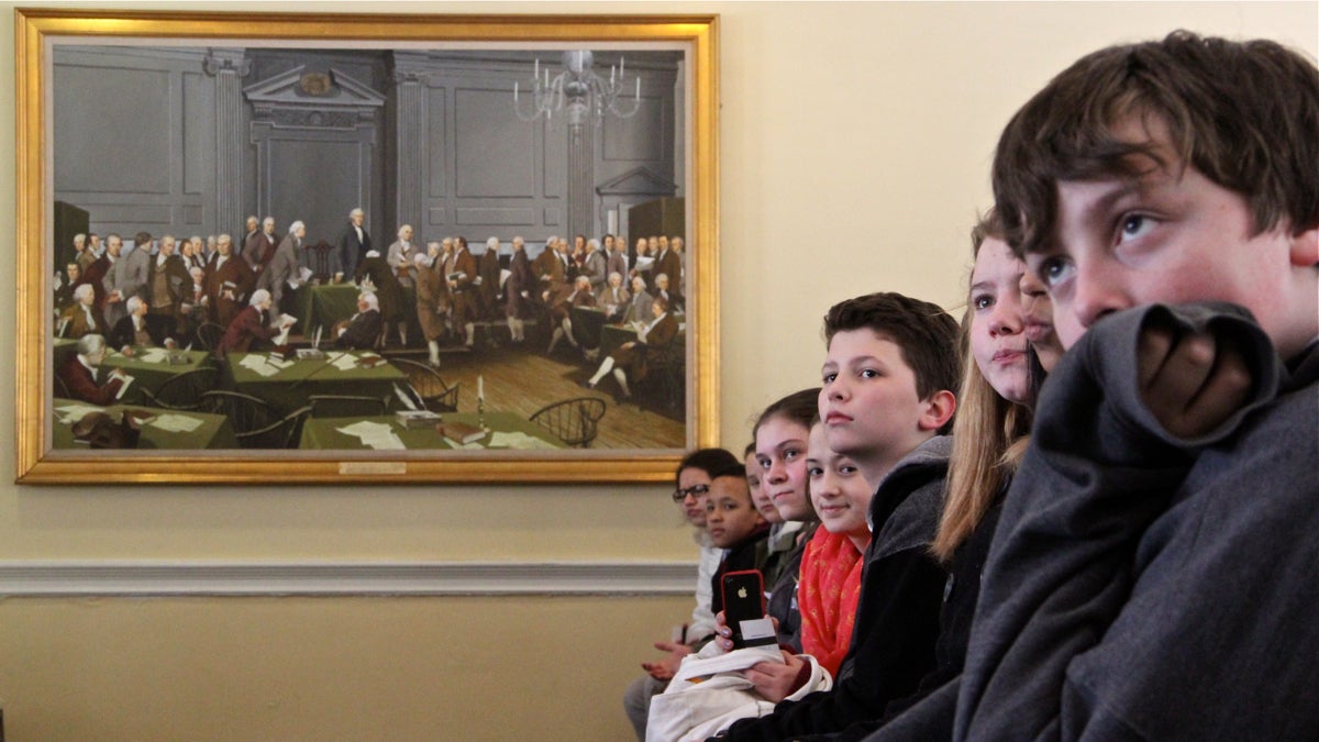
<svg viewBox="0 0 1319 742"><path fill-rule="evenodd" d="M243 49L211 49L202 62L215 79L215 230L243 223Z"/></svg>

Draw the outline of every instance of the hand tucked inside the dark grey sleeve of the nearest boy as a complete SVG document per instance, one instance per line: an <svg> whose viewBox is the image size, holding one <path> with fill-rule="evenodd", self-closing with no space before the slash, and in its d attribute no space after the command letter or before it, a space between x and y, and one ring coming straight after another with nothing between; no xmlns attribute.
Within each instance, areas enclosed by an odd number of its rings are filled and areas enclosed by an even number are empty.
<svg viewBox="0 0 1319 742"><path fill-rule="evenodd" d="M1250 393L1245 358L1210 333L1177 335L1167 327L1145 327L1137 353L1141 400L1177 437L1213 430Z"/></svg>

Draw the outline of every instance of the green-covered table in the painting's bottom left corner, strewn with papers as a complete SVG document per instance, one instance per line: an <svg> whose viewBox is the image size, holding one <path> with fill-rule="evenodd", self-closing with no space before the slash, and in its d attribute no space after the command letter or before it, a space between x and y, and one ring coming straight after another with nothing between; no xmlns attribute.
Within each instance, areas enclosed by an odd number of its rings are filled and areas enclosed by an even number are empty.
<svg viewBox="0 0 1319 742"><path fill-rule="evenodd" d="M57 450L87 450L86 444L79 444L74 440L73 426L74 422L82 420L88 412L104 412L117 422L123 419L125 409L152 416L142 425L142 434L137 441L138 449L200 450L239 448L239 441L233 436L233 426L230 425L228 417L223 415L158 409L137 404L98 407L71 399L55 399L50 407L54 419L54 424L51 425L51 444Z"/></svg>

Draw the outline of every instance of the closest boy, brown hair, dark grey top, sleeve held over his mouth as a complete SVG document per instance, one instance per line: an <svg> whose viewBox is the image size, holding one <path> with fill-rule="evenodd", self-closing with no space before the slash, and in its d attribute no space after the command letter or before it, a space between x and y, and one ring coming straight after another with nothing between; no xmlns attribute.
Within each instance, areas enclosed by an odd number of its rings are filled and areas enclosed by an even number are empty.
<svg viewBox="0 0 1319 742"><path fill-rule="evenodd" d="M1070 350L956 739L1319 738L1316 127L1312 61L1178 32L1084 57L1004 131L998 210Z"/></svg>

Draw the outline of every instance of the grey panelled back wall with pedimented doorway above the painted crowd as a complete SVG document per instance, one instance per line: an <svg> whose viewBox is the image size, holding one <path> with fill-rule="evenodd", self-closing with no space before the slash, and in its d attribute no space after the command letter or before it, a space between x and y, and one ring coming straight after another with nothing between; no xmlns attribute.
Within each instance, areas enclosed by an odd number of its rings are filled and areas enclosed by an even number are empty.
<svg viewBox="0 0 1319 742"><path fill-rule="evenodd" d="M682 195L677 53L629 53L637 114L575 132L514 115L537 58L558 73L553 50L61 46L54 195L102 234L239 232L257 214L281 232L303 220L313 243L361 206L381 246L401 223L418 239L600 235ZM596 53L605 74L617 61ZM648 187L620 194L623 180Z"/></svg>

